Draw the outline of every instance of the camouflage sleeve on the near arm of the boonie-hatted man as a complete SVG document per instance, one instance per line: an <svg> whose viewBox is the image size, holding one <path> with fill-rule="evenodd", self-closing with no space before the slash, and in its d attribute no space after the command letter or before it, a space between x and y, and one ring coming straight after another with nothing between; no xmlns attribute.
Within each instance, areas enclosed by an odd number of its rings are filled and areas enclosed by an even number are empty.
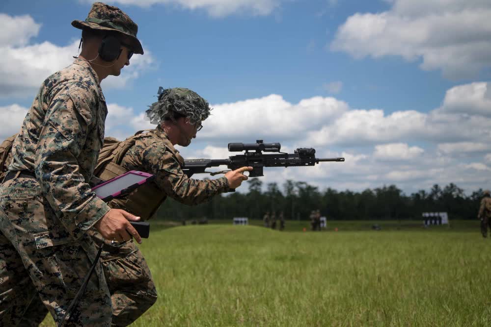
<svg viewBox="0 0 491 327"><path fill-rule="evenodd" d="M98 128L94 126L95 113L91 112L96 106L90 97L93 99L89 90L85 94L82 90L77 96L61 94L52 99L35 162L43 195L61 223L74 234L87 230L109 211L85 181L78 162L84 148L93 147L90 135L94 135L93 128Z"/></svg>

